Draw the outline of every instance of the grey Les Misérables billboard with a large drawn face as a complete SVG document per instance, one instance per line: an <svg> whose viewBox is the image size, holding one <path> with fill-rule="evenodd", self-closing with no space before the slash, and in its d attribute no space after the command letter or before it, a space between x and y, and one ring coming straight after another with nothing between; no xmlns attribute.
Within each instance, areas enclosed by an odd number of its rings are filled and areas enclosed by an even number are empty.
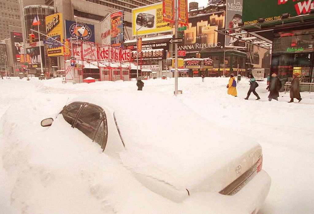
<svg viewBox="0 0 314 214"><path fill-rule="evenodd" d="M238 24L242 22L242 5L243 0L227 0L226 1L226 23L227 28L238 27ZM229 30L229 34L246 33L242 29ZM235 36L236 38L244 38L246 34L239 34ZM239 39L230 36L226 36L225 46L230 48L245 48L246 43Z"/></svg>

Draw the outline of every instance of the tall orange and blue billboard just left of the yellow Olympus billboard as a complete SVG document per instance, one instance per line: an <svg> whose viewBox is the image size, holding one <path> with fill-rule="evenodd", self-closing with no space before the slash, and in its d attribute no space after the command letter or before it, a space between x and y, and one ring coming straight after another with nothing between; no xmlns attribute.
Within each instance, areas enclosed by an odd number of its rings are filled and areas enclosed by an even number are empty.
<svg viewBox="0 0 314 214"><path fill-rule="evenodd" d="M111 23L111 45L114 48L123 48L123 11L110 14Z"/></svg>

